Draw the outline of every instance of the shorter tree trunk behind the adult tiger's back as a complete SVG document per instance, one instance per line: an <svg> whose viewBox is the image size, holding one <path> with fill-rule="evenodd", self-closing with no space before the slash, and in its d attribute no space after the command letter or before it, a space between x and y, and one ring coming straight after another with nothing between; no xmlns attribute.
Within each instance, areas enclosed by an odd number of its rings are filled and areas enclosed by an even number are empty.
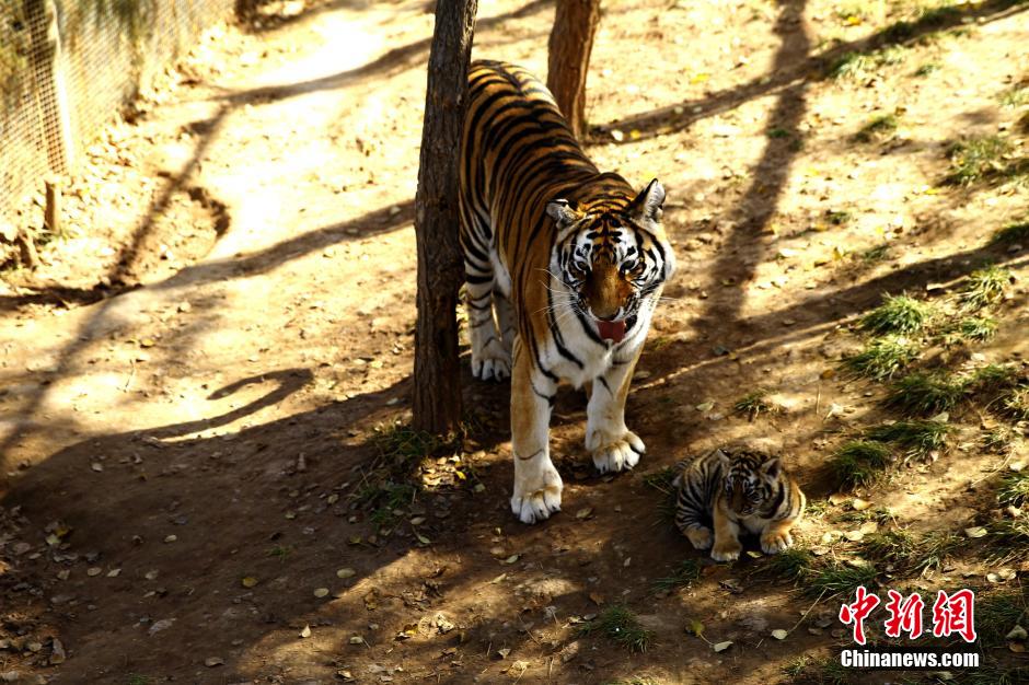
<svg viewBox="0 0 1029 685"><path fill-rule="evenodd" d="M586 133L586 76L600 23L600 0L557 0L546 86L576 138Z"/></svg>

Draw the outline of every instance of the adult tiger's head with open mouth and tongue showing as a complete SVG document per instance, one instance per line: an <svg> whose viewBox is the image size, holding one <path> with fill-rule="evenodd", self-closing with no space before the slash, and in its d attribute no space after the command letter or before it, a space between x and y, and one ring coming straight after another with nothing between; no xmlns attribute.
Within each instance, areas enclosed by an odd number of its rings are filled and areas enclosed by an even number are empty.
<svg viewBox="0 0 1029 685"><path fill-rule="evenodd" d="M661 229L664 188L654 179L632 201L579 207L554 199L557 225L551 274L571 291L565 302L589 318L601 338L621 342L640 316L649 321L675 257Z"/></svg>

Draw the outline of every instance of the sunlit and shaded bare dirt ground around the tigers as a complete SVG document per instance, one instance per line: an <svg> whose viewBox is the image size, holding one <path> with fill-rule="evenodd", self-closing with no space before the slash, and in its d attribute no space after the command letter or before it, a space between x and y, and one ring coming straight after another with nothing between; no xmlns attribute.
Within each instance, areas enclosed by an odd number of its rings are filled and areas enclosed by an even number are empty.
<svg viewBox="0 0 1029 685"><path fill-rule="evenodd" d="M940 185L962 137L999 133L1005 159L1025 154L1026 104L1004 93L1029 73L1026 5L936 23L910 2L605 4L589 152L637 186L662 181L680 262L628 403L648 445L636 471L593 473L585 402L563 391L564 511L518 523L508 386L465 368L473 429L454 457L424 465L384 512L359 503L382 437L409 417L431 8L269 3L142 94L73 179L68 235L0 281L0 674L768 683L847 641L818 628L839 600L754 574L760 558L655 594L704 557L645 476L770 440L824 504L798 533L817 543L847 507L825 501L826 456L883 416L880 385L836 372L883 292L943 297L1006 265L999 333L974 352L1029 353L1029 244L990 243L1025 217L1027 185ZM552 18L546 0L483 0L475 56L543 76ZM913 28L891 57L825 76L892 40L898 20ZM880 115L893 129L855 140ZM782 410L751 421L733 403L758 386ZM915 527L981 521L1003 465L978 428L859 495ZM983 584L994 569L945 570ZM1006 582L1027 571L1016 562ZM654 630L645 653L577 636L616 603Z"/></svg>

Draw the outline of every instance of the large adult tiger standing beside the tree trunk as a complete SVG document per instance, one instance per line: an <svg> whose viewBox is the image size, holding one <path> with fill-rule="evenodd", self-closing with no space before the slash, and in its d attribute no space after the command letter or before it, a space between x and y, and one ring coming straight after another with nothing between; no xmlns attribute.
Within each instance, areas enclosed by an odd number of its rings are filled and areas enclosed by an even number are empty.
<svg viewBox="0 0 1029 685"><path fill-rule="evenodd" d="M654 179L636 195L600 173L546 86L496 61L469 74L460 175L472 371L511 375L511 509L533 523L560 509L548 445L558 381L587 386L586 446L601 473L644 453L625 398L674 269L664 189Z"/></svg>

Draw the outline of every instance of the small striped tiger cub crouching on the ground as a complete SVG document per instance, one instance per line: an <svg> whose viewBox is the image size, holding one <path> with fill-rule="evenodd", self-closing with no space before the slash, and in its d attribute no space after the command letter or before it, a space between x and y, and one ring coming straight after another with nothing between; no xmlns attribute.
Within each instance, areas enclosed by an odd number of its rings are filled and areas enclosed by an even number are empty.
<svg viewBox="0 0 1029 685"><path fill-rule="evenodd" d="M712 548L716 561L739 558L741 530L760 534L765 554L783 552L807 502L777 457L747 450L719 449L680 464L672 483L675 525L695 548Z"/></svg>

